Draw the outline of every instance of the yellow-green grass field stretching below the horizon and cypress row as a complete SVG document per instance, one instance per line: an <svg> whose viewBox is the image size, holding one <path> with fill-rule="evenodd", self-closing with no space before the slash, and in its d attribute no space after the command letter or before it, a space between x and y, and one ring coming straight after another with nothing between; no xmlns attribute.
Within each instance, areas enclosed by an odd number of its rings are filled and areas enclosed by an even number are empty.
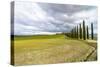
<svg viewBox="0 0 100 67"><path fill-rule="evenodd" d="M52 64L95 61L97 42L76 40L64 35L38 35L14 37L14 63Z"/></svg>

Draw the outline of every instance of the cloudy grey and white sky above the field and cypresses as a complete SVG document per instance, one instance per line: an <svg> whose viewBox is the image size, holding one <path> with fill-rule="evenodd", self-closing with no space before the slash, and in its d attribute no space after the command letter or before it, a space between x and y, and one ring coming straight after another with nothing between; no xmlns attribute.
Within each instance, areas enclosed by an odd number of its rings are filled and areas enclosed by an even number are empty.
<svg viewBox="0 0 100 67"><path fill-rule="evenodd" d="M97 32L97 7L87 5L15 2L14 35L69 32L85 20Z"/></svg>

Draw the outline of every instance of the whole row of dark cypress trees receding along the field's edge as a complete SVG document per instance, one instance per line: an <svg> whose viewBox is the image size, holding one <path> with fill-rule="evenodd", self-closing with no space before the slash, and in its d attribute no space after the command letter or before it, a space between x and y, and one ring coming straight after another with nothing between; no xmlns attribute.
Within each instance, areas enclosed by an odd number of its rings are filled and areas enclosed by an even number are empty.
<svg viewBox="0 0 100 67"><path fill-rule="evenodd" d="M88 25L85 25L85 21L83 20L82 24L79 24L75 26L69 33L65 34L66 36L70 38L76 38L76 39L94 39L94 32L93 32L93 23L91 23L91 36L89 35L89 27Z"/></svg>

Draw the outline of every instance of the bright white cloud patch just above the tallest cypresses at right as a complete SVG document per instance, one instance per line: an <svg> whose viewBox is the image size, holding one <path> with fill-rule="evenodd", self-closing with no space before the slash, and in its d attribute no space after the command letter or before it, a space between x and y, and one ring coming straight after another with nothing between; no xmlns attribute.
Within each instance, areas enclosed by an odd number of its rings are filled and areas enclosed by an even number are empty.
<svg viewBox="0 0 100 67"><path fill-rule="evenodd" d="M97 20L97 10L92 9L92 10L87 10L87 11L80 11L77 12L73 15L74 18L79 19L79 20L87 20L89 22L93 22Z"/></svg>

